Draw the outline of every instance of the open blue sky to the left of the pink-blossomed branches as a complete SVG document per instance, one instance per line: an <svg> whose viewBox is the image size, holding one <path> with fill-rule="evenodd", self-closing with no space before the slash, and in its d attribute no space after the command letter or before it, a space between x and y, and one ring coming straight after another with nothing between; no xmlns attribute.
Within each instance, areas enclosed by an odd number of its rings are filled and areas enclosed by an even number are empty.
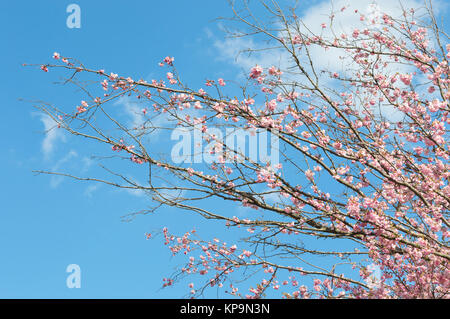
<svg viewBox="0 0 450 319"><path fill-rule="evenodd" d="M70 3L81 7L80 29L66 26ZM162 277L179 261L171 258L162 240L145 240L144 234L165 225L178 232L196 226L207 237L214 228L169 208L124 222L121 216L148 207L144 196L33 174L33 170L55 168L93 173L95 164L89 155L95 149L69 136L46 140L44 123L32 101L75 105L79 92L53 84L61 80L61 73L44 74L22 64L46 63L57 51L93 68L151 78L161 74L157 63L170 55L194 85L206 77L235 80L241 68L254 60L233 60L245 43L223 40L218 22L213 21L229 15L227 1L0 3L0 298L186 295L184 284L159 289ZM179 223L170 223L175 219ZM81 267L81 289L66 287L65 270L73 263Z"/></svg>

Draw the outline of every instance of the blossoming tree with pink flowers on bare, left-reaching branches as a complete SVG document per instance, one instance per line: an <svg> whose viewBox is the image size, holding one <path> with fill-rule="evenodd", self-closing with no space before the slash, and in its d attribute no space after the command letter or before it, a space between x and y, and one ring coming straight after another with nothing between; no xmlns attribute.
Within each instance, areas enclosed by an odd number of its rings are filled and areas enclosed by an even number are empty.
<svg viewBox="0 0 450 319"><path fill-rule="evenodd" d="M186 254L164 286L196 276L192 296L223 287L247 298L448 298L450 44L431 4L400 17L343 7L319 28L304 25L295 10L266 9L272 24L233 7L246 28L238 36L264 38L282 61L254 65L236 87L223 79L189 87L173 57L160 62L165 78L147 82L55 53L56 63L41 69L63 69L86 94L71 109L41 106L55 129L144 167L148 182L124 171L114 172L119 181L45 173L142 190L158 206L243 231L245 238L227 244L164 228L171 252ZM364 27L341 32L334 21L349 10ZM320 64L317 52L339 56L341 70ZM82 86L83 76L97 88ZM143 103L139 125L110 108L123 96ZM156 125L160 116L165 127ZM223 127L270 133L279 160L248 156L218 138ZM199 134L213 160L174 161L146 147L146 138L168 128ZM206 204L211 199L247 207L249 217ZM255 275L234 284L244 273Z"/></svg>

